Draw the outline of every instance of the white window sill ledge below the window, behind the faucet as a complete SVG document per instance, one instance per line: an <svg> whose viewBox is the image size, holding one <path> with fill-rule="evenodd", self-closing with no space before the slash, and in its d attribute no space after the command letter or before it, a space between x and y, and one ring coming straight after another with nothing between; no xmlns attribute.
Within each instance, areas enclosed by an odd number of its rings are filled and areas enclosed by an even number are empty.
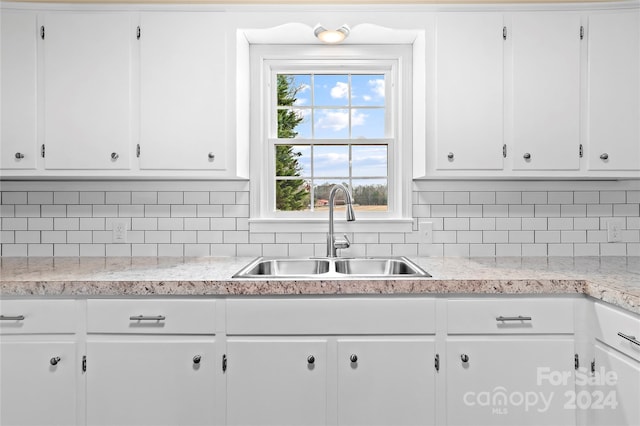
<svg viewBox="0 0 640 426"><path fill-rule="evenodd" d="M413 219L336 219L336 232L411 232ZM327 232L328 219L249 219L251 232Z"/></svg>

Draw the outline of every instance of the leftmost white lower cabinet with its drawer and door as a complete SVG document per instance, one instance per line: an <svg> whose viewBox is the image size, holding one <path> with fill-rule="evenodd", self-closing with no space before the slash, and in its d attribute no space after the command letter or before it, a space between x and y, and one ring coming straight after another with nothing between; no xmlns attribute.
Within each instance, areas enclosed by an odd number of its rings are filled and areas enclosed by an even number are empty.
<svg viewBox="0 0 640 426"><path fill-rule="evenodd" d="M77 425L75 303L0 299L0 425Z"/></svg>

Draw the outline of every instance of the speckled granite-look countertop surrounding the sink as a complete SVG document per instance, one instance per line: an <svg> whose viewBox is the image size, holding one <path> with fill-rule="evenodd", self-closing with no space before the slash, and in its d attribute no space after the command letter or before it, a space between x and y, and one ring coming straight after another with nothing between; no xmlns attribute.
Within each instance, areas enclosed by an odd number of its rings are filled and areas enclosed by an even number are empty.
<svg viewBox="0 0 640 426"><path fill-rule="evenodd" d="M586 294L640 314L640 257L420 257L432 278L231 278L251 260L0 258L0 295Z"/></svg>

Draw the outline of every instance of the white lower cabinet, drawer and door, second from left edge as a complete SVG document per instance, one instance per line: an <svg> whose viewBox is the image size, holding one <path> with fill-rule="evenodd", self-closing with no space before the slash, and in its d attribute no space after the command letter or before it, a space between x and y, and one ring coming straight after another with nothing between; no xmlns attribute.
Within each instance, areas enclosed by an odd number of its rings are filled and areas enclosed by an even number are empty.
<svg viewBox="0 0 640 426"><path fill-rule="evenodd" d="M86 422L218 422L222 381L212 299L87 301Z"/></svg>

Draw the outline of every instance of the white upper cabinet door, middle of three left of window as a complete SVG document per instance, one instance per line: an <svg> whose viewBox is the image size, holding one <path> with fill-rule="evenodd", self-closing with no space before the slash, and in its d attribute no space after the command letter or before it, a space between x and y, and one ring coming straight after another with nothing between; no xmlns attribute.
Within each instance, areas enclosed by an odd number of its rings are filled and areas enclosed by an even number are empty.
<svg viewBox="0 0 640 426"><path fill-rule="evenodd" d="M129 15L50 13L45 19L45 167L128 169Z"/></svg>

